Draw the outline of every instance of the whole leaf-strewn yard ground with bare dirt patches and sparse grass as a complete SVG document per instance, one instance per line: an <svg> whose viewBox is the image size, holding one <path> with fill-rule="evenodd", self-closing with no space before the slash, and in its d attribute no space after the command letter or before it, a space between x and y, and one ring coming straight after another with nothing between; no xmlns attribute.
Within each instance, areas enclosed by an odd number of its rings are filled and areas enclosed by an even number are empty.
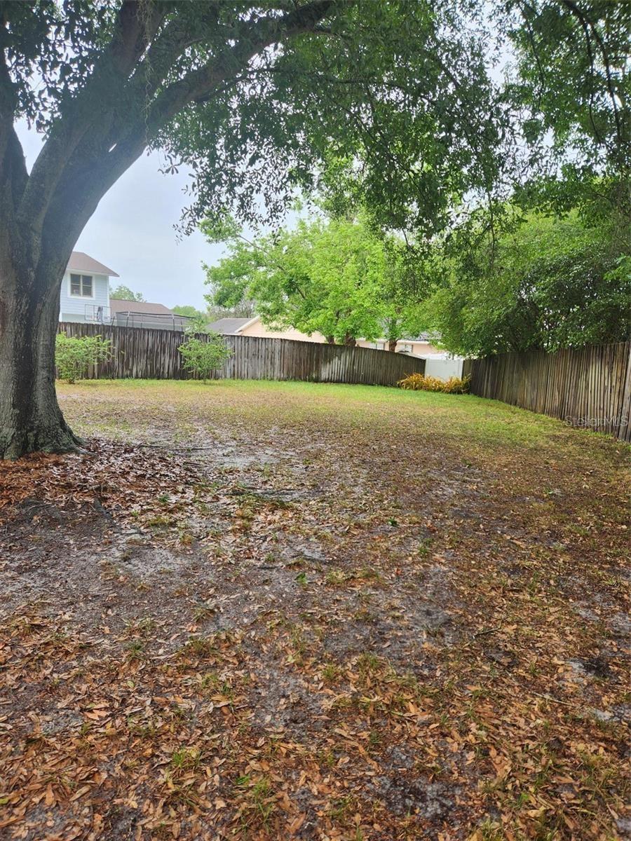
<svg viewBox="0 0 631 841"><path fill-rule="evenodd" d="M0 467L0 838L628 838L628 449L473 397L82 383Z"/></svg>

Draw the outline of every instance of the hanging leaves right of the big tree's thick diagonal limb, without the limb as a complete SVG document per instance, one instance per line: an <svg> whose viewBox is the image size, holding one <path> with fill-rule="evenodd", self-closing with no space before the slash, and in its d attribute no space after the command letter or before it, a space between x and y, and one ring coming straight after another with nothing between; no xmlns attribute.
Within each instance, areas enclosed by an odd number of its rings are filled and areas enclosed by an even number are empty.
<svg viewBox="0 0 631 841"><path fill-rule="evenodd" d="M272 220L331 155L363 161L363 198L396 227L438 230L453 198L494 180L503 117L474 18L444 0L363 0L329 4L315 29L162 132L194 169L189 229L226 209Z"/></svg>

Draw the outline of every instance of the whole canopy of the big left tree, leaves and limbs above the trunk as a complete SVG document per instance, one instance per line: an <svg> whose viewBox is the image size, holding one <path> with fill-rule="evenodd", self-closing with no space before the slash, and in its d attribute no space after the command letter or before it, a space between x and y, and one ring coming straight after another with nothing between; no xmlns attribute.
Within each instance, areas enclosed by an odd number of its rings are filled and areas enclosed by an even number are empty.
<svg viewBox="0 0 631 841"><path fill-rule="evenodd" d="M480 8L0 2L0 95L54 141L36 167L41 201L48 166L83 167L104 191L146 145L162 146L165 172L191 170L186 230L225 209L271 220L342 156L362 161L363 198L382 221L440 230L453 201L494 183L503 160L507 114Z"/></svg>

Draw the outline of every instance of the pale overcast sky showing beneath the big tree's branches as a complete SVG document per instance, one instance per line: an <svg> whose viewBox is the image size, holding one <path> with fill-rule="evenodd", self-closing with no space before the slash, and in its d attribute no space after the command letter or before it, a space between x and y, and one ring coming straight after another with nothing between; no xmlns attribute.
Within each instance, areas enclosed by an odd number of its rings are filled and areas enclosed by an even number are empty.
<svg viewBox="0 0 631 841"><path fill-rule="evenodd" d="M18 133L30 169L41 136L25 124ZM114 269L120 283L148 301L205 309L202 261L215 262L224 249L209 246L199 232L178 240L173 225L187 204L187 177L162 175L162 161L159 153L136 161L101 200L75 248Z"/></svg>

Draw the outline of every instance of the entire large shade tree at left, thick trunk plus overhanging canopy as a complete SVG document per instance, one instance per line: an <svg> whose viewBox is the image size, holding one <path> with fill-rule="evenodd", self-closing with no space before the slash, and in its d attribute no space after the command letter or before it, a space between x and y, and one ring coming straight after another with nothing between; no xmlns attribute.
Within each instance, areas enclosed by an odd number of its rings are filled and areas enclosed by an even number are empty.
<svg viewBox="0 0 631 841"><path fill-rule="evenodd" d="M475 17L451 0L0 3L0 457L77 446L57 404L61 279L147 148L192 173L184 230L270 220L331 146L395 224L440 229L495 182L501 124ZM14 124L45 134L29 172ZM469 140L470 139L470 140ZM260 198L259 198L260 197Z"/></svg>

